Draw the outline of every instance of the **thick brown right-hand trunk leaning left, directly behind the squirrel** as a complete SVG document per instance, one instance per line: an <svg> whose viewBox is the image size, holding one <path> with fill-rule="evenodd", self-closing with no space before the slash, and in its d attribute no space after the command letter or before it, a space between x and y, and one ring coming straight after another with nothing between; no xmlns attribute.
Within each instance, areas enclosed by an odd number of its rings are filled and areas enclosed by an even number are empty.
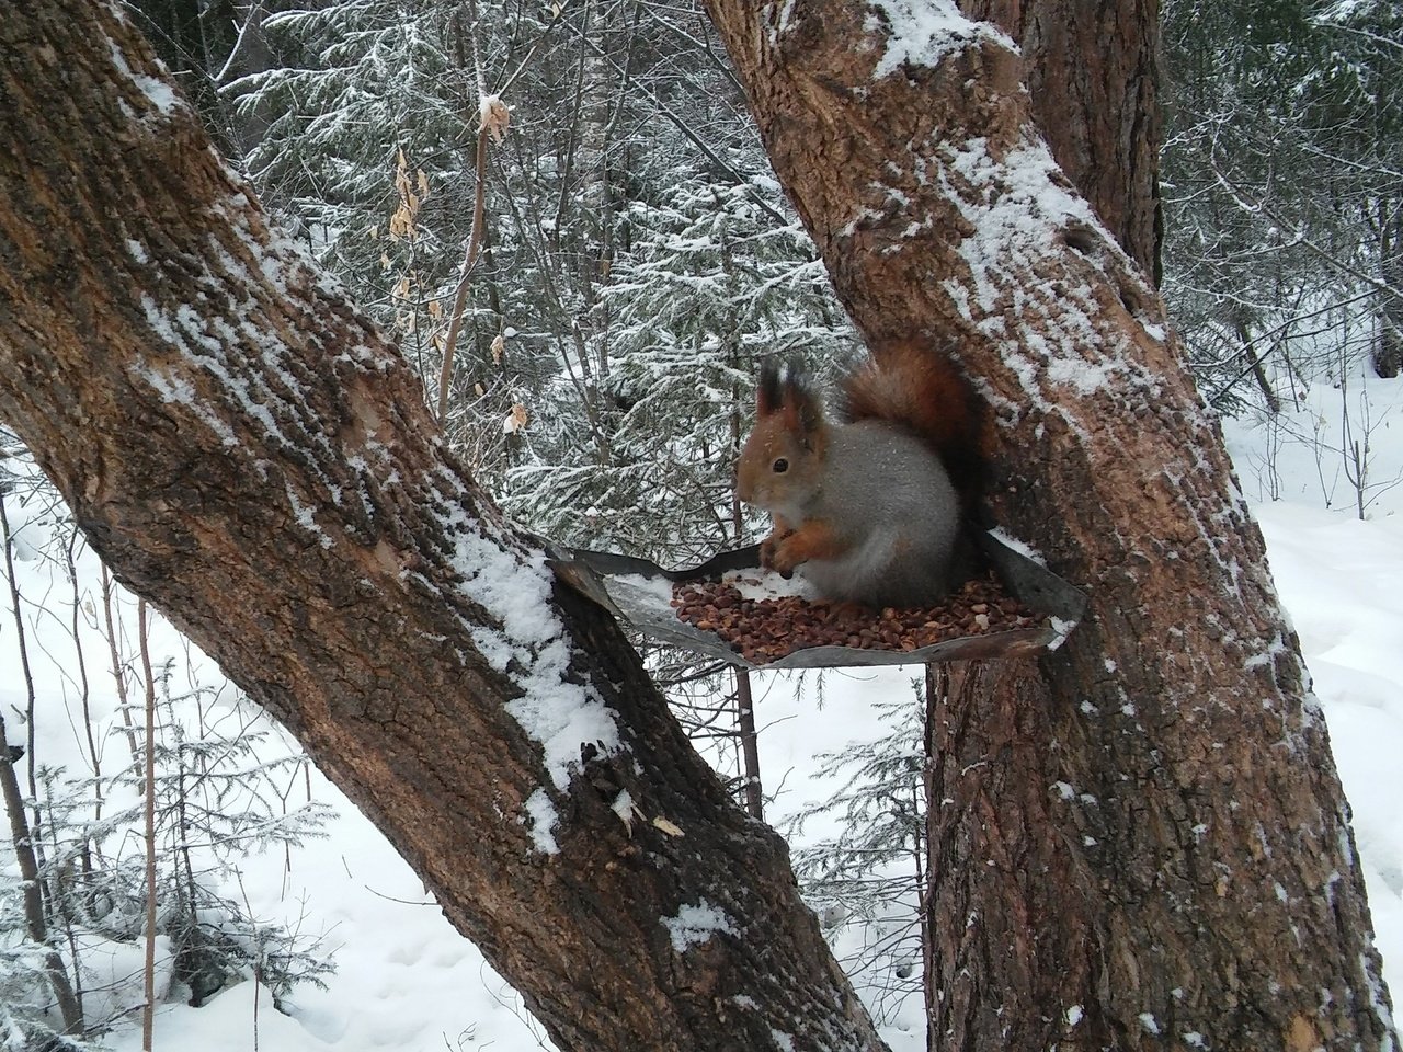
<svg viewBox="0 0 1403 1052"><path fill-rule="evenodd" d="M1393 1048L1260 532L1019 56L947 7L709 7L874 353L916 334L965 367L995 518L1090 595L1059 651L976 666L941 711L936 1042Z"/></svg>

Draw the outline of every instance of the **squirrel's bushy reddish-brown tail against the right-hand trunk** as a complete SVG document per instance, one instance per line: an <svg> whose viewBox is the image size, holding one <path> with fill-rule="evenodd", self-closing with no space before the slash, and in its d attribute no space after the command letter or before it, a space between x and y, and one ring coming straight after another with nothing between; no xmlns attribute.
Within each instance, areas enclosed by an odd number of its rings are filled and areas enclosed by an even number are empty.
<svg viewBox="0 0 1403 1052"><path fill-rule="evenodd" d="M939 454L969 515L984 488L984 403L955 363L916 341L887 344L843 382L843 417L913 431Z"/></svg>

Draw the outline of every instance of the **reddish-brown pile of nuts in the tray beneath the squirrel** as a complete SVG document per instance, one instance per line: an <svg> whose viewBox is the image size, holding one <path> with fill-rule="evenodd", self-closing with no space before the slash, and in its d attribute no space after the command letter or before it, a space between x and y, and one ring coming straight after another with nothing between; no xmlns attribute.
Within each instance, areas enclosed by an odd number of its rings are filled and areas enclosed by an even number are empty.
<svg viewBox="0 0 1403 1052"><path fill-rule="evenodd" d="M969 581L944 605L922 610L873 610L796 595L749 599L724 581L678 584L672 606L683 621L716 633L755 665L808 647L913 651L964 635L1031 628L1041 620L992 578Z"/></svg>

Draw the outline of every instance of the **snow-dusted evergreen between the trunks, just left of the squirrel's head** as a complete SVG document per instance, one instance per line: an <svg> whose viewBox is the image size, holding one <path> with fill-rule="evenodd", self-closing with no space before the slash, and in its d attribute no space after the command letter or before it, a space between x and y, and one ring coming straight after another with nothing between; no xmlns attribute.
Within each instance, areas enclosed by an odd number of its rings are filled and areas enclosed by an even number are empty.
<svg viewBox="0 0 1403 1052"><path fill-rule="evenodd" d="M831 360L853 344L808 238L773 220L772 195L762 180L696 175L665 203L630 206L629 248L602 295L606 442L547 417L509 474L509 509L550 536L672 564L751 533L732 473L758 359Z"/></svg>

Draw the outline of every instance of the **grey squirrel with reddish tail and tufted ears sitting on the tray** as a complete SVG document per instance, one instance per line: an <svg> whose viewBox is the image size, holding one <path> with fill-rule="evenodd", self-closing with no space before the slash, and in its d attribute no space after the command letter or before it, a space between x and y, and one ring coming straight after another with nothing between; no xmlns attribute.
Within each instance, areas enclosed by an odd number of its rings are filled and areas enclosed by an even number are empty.
<svg viewBox="0 0 1403 1052"><path fill-rule="evenodd" d="M760 564L786 578L803 565L824 599L940 603L964 579L962 527L984 474L979 429L969 382L911 341L847 373L836 419L807 375L765 362L737 466L737 495L774 520Z"/></svg>

